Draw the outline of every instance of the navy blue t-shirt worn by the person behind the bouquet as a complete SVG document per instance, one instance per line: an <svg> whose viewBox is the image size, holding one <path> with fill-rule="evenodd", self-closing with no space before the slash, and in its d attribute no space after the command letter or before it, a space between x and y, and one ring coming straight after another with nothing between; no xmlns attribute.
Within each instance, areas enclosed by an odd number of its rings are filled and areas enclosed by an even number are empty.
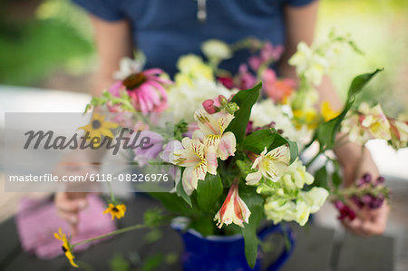
<svg viewBox="0 0 408 271"><path fill-rule="evenodd" d="M301 6L314 0L207 0L207 20L197 19L197 0L73 0L106 21L129 19L133 42L145 53L146 68L174 74L182 54L200 54L200 44L215 38L228 44L255 36L284 44L284 5ZM248 53L236 53L223 68L235 73Z"/></svg>

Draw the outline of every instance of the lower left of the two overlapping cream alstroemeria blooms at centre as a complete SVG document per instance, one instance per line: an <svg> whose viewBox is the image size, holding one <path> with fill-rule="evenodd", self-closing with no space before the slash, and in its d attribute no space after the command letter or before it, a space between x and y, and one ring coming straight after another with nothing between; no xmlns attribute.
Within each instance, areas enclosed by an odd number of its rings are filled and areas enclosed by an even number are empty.
<svg viewBox="0 0 408 271"><path fill-rule="evenodd" d="M217 167L214 166L213 158L205 156L207 147L199 140L184 138L181 143L184 149L174 152L174 164L186 168L181 181L186 193L191 195L192 191L197 189L199 179L205 179L207 172L217 174Z"/></svg>

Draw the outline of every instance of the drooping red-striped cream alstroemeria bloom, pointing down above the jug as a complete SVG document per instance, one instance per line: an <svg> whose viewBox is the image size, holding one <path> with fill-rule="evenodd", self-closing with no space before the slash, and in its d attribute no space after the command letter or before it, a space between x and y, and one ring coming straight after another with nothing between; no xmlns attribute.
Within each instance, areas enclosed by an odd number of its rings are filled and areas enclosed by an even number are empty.
<svg viewBox="0 0 408 271"><path fill-rule="evenodd" d="M239 227L244 227L243 223L248 223L251 212L242 198L238 195L238 184L233 183L229 188L227 198L225 198L219 212L215 215L214 221L218 220L217 227L234 223Z"/></svg>

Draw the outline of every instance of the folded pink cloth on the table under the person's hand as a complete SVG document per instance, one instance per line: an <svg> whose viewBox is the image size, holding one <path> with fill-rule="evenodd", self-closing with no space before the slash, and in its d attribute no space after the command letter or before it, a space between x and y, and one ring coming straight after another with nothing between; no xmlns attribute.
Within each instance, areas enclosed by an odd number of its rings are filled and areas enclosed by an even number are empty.
<svg viewBox="0 0 408 271"><path fill-rule="evenodd" d="M102 214L103 210L104 203L101 198L95 195L88 197L88 207L80 213L78 235L73 237L71 243L116 229L111 216ZM56 214L52 201L24 198L20 202L16 223L24 251L44 259L63 254L61 241L55 239L53 233L58 232L58 227L62 227L63 233L69 237L70 229L68 223ZM97 242L92 242L92 244ZM74 252L84 250L92 244L75 247Z"/></svg>

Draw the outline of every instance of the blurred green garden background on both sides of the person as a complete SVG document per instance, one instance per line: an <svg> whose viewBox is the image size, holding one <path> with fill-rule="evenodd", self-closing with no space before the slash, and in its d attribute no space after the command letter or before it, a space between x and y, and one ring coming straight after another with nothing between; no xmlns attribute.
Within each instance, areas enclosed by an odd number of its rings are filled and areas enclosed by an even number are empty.
<svg viewBox="0 0 408 271"><path fill-rule="evenodd" d="M335 29L351 34L364 55L345 52L332 78L340 95L357 73L385 70L362 99L385 111L407 111L408 1L321 0L317 39ZM0 84L86 92L96 63L92 30L83 10L68 0L0 3Z"/></svg>

